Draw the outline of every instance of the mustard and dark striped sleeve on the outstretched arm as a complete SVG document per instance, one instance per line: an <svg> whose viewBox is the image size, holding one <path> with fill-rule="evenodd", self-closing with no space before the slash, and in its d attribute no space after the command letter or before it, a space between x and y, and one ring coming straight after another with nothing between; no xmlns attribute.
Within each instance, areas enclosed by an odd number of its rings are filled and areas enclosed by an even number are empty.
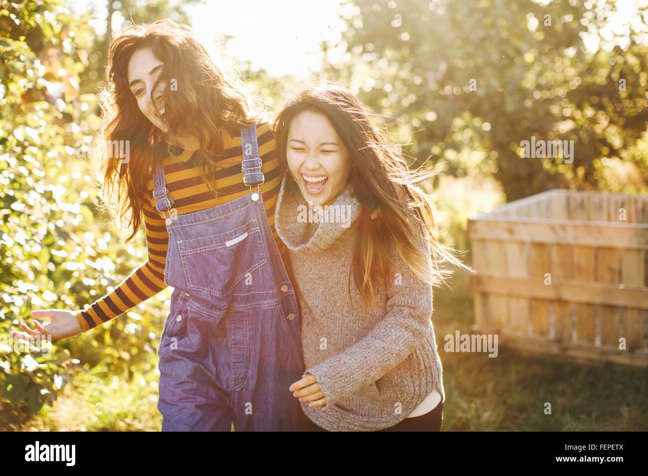
<svg viewBox="0 0 648 476"><path fill-rule="evenodd" d="M110 321L167 287L164 281L168 247L165 221L149 203L143 204L143 211L148 259L113 291L75 313L82 332Z"/></svg>

